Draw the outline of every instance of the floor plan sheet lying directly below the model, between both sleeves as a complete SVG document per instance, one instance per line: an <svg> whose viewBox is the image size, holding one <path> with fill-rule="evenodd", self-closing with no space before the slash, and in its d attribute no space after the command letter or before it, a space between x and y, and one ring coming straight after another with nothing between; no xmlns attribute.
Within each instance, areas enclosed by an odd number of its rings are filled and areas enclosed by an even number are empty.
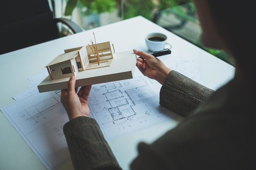
<svg viewBox="0 0 256 170"><path fill-rule="evenodd" d="M160 88L144 76L92 86L89 106L106 139L171 119L159 106Z"/></svg>

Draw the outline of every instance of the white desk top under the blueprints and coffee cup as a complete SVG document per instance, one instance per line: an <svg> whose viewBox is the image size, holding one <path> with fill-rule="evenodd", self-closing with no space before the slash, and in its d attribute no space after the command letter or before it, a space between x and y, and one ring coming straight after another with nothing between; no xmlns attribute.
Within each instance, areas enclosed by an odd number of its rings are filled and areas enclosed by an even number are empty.
<svg viewBox="0 0 256 170"><path fill-rule="evenodd" d="M94 40L93 32L97 42L114 41L116 52L132 49L147 51L144 36L150 32L162 32L168 36L168 42L172 45L172 55L183 54L184 51L194 54L195 64L207 87L216 90L234 76L233 66L138 16L0 55L0 108L15 102L12 97L31 85L27 77L45 71L48 62L63 53L64 49L83 46L90 40ZM173 128L177 122L178 120L168 121L110 141L109 144L121 167L128 169L130 161L137 154L139 141L152 142L166 130ZM38 157L2 113L0 114L0 134L0 170L45 170ZM73 169L71 161L59 169Z"/></svg>

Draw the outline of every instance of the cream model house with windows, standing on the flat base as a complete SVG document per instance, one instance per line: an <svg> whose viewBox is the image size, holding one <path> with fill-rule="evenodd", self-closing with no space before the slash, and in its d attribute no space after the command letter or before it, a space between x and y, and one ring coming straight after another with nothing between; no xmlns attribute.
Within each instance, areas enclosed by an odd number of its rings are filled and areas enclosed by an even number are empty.
<svg viewBox="0 0 256 170"><path fill-rule="evenodd" d="M76 75L79 71L110 66L115 55L113 42L103 42L95 45L97 45L100 64L94 56L92 45L67 49L64 50L65 53L58 55L45 66L50 79L70 77Z"/></svg>

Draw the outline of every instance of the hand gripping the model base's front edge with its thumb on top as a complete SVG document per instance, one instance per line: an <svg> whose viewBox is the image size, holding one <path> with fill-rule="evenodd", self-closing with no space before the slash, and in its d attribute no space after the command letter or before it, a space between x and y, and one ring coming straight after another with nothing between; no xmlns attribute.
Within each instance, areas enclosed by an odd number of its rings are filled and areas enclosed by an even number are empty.
<svg viewBox="0 0 256 170"><path fill-rule="evenodd" d="M79 116L89 117L90 108L88 106L88 97L92 85L83 86L77 92L75 88L76 79L74 76L70 77L67 89L61 90L61 103L63 104L69 119L74 119Z"/></svg>

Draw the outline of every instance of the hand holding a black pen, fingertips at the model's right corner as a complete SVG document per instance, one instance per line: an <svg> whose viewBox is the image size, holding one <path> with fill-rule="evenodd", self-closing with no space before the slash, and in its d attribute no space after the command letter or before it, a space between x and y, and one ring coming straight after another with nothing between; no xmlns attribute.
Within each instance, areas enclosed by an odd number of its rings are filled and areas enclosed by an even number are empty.
<svg viewBox="0 0 256 170"><path fill-rule="evenodd" d="M136 49L134 49L133 52L145 59L137 58L136 66L139 68L139 71L141 71L143 75L157 80L160 84L164 84L164 80L171 69L166 67L161 60L151 54Z"/></svg>

